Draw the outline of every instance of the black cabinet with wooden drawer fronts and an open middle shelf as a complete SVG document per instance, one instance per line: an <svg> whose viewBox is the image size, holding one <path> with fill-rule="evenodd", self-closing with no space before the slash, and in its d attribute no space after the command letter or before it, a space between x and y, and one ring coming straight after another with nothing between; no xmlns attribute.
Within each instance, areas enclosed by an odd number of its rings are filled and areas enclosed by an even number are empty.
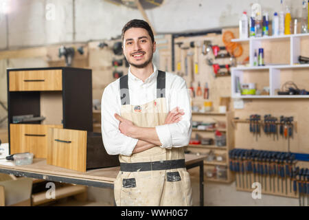
<svg viewBox="0 0 309 220"><path fill-rule="evenodd" d="M51 67L8 69L10 154L47 157L49 127L93 131L91 69ZM44 120L18 122L16 115Z"/></svg>

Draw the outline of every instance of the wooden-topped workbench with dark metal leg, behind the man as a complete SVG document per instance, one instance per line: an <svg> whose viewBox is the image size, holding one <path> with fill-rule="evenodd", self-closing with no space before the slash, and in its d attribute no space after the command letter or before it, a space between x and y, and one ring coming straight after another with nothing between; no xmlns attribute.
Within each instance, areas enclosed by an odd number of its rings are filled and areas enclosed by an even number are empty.
<svg viewBox="0 0 309 220"><path fill-rule="evenodd" d="M185 155L187 169L200 167L200 205L204 205L204 170L203 159L205 155ZM87 170L86 173L48 165L46 159L34 159L33 163L24 166L15 166L14 162L0 159L0 173L8 173L16 176L32 177L49 181L64 182L101 188L113 188L114 181L120 170L119 166L111 168L98 168Z"/></svg>

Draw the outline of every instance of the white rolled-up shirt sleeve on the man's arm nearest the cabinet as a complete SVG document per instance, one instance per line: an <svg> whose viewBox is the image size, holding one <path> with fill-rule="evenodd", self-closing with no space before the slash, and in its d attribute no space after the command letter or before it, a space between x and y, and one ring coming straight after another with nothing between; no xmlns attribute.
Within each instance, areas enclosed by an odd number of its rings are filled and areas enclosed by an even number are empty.
<svg viewBox="0 0 309 220"><path fill-rule="evenodd" d="M113 85L115 86L115 85ZM120 115L119 88L108 85L103 92L101 102L101 129L102 139L106 152L109 155L130 156L137 144L137 139L128 137L119 131L119 121L115 113Z"/></svg>

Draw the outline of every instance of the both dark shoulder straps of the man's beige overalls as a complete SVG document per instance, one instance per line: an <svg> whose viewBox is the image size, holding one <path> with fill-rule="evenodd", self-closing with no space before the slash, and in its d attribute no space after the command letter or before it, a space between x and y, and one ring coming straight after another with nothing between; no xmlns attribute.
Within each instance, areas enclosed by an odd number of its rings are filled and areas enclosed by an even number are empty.
<svg viewBox="0 0 309 220"><path fill-rule="evenodd" d="M165 98L165 72L158 70L157 76L157 98ZM120 98L122 105L130 104L130 95L128 91L128 75L119 78Z"/></svg>

